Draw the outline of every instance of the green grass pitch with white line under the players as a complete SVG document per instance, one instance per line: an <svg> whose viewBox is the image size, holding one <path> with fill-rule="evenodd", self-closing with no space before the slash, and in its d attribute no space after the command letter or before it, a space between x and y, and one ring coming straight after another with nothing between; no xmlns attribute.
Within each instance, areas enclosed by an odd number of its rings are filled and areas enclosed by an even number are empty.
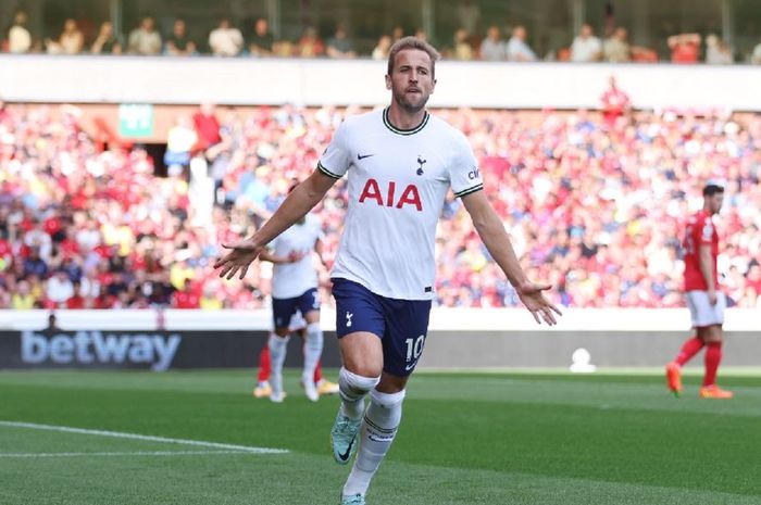
<svg viewBox="0 0 761 505"><path fill-rule="evenodd" d="M721 379L735 400L660 371L416 374L367 503L761 504L761 376ZM335 505L338 399L297 380L277 405L248 370L0 373L0 504Z"/></svg>

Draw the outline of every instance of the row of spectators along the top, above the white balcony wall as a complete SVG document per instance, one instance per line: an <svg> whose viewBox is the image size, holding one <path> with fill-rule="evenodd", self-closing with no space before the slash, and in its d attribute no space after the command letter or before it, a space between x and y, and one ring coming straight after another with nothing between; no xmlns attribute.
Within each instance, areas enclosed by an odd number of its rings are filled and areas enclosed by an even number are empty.
<svg viewBox="0 0 761 505"><path fill-rule="evenodd" d="M549 47L541 41L542 52L532 47L531 34L525 24L503 26L495 20L482 20L477 5L465 2L458 11L461 25L441 40L433 41L441 53L452 60L485 60L533 62L643 62L671 61L673 63L729 64L735 61L761 64L761 40L750 42L743 37L738 47L732 47L716 31L669 33L653 40L653 47L643 47L629 41L625 26L609 20L595 33L591 24L583 24L560 47ZM476 8L475 10L473 8ZM352 38L350 27L337 23L329 33L320 33L313 25L301 28L297 38L276 38L266 17L258 17L250 26L236 26L232 17L210 22L203 36L188 34L183 17L140 17L136 26L121 35L111 21L96 25L93 20L67 17L54 36L40 37L32 33L29 18L24 10L16 11L5 34L0 37L0 48L15 54L45 52L48 54L137 54L191 56L278 56L278 58L338 58L371 56L385 60L391 43L404 36L404 28L396 26L390 33L379 35L374 46ZM161 29L159 26L165 27ZM483 26L482 26L483 25ZM97 26L97 27L96 27ZM674 28L665 28L674 29ZM416 37L428 39L423 28L416 28ZM750 35L749 37L753 37ZM372 38L375 40L375 38ZM539 41L535 41L539 42ZM547 47L545 47L547 46Z"/></svg>

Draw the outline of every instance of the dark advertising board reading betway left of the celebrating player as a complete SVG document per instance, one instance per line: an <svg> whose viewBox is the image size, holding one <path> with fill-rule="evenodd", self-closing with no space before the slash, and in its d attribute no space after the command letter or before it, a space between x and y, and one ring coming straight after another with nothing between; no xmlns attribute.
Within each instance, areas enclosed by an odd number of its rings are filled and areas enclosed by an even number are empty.
<svg viewBox="0 0 761 505"><path fill-rule="evenodd" d="M0 331L0 368L240 368L259 365L266 331ZM323 364L337 366L335 339ZM286 366L302 363L292 338Z"/></svg>

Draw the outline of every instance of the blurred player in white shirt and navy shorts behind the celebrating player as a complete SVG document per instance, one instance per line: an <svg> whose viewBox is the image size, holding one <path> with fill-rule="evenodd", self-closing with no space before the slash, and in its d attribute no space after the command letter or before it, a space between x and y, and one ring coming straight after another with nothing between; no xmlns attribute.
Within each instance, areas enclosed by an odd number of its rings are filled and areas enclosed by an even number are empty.
<svg viewBox="0 0 761 505"><path fill-rule="evenodd" d="M316 402L320 399L314 382L314 370L323 352L323 331L320 328L317 273L312 264L311 253L315 251L322 261L321 233L320 222L308 214L276 237L271 243L272 250L259 254L261 261L275 265L272 274L272 313L275 330L270 334L267 343L272 370L270 400L275 403L285 400L283 363L290 340L291 318L299 312L307 323L301 384L309 400Z"/></svg>

